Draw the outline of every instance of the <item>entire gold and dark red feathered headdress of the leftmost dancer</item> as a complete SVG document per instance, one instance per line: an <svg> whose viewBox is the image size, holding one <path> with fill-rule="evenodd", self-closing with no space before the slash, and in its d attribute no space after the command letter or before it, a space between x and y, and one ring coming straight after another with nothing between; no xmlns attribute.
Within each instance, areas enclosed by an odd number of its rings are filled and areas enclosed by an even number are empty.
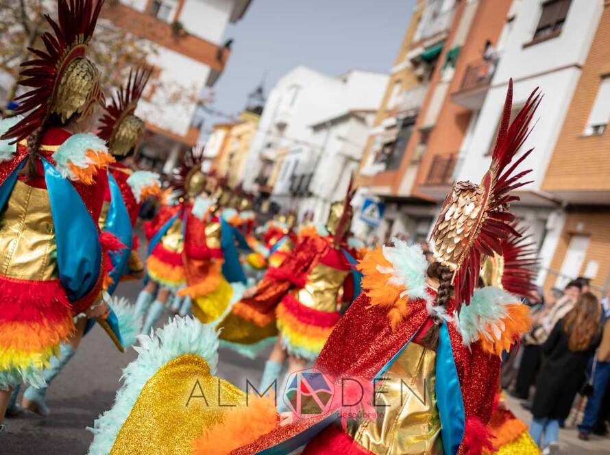
<svg viewBox="0 0 610 455"><path fill-rule="evenodd" d="M45 125L50 114L60 115L63 122L75 112L87 116L103 101L99 71L85 58L102 4L103 0L58 0L58 22L45 14L53 29L40 36L46 51L28 48L35 57L21 64L19 84L32 90L15 99L15 112L25 116L3 139L26 138Z"/></svg>

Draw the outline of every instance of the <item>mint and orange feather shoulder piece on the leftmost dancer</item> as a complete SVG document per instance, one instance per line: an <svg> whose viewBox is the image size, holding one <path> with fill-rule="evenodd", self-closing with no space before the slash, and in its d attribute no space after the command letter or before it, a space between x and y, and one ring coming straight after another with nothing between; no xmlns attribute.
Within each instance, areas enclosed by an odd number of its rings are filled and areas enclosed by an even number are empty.
<svg viewBox="0 0 610 455"><path fill-rule="evenodd" d="M73 134L53 153L56 168L73 182L93 184L98 169L114 162L106 143L95 134Z"/></svg>

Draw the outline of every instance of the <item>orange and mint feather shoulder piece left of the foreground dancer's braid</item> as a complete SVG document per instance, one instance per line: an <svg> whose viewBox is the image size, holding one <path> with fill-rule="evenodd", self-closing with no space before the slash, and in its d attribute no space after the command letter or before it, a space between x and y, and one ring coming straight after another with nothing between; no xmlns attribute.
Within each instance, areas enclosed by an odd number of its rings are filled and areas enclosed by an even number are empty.
<svg viewBox="0 0 610 455"><path fill-rule="evenodd" d="M408 302L428 299L428 262L419 245L408 246L398 238L393 247L369 251L357 268L363 273L362 287L371 305L389 309L393 328L408 315Z"/></svg>

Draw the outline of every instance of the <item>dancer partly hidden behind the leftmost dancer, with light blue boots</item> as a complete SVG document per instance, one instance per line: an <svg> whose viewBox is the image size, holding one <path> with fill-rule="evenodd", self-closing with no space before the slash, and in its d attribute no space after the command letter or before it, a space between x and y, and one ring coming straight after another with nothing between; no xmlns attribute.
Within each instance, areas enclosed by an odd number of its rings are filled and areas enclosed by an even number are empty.
<svg viewBox="0 0 610 455"><path fill-rule="evenodd" d="M138 212L143 199L157 195L160 191L160 177L147 171L132 171L122 164L136 152L138 143L144 132L144 122L134 115L138 99L144 90L150 70L130 71L127 86L121 87L101 118L102 127L98 137L103 139L116 162L108 167L108 184L104 195L99 229L116 236L123 245L111 256L111 281L106 291L114 293L119 281L125 276L133 275L143 278L143 265L136 251L137 237L133 235L133 227L138 219ZM131 346L140 332L141 316L134 314L132 305L127 299L113 299L108 316L103 320L103 328L110 334L121 352ZM77 334L81 338L93 328L95 319L88 319L84 333ZM45 370L46 387L29 386L23 393L21 406L27 410L46 416L50 410L46 404L46 393L52 380L66 367L75 354L76 343L62 345L58 360L51 362L51 368ZM15 391L14 391L15 393Z"/></svg>

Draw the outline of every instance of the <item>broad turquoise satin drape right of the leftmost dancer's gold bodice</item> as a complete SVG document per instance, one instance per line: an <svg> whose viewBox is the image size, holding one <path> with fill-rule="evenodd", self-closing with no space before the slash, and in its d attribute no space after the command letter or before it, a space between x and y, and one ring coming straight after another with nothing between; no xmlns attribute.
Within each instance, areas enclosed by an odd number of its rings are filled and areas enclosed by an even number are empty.
<svg viewBox="0 0 610 455"><path fill-rule="evenodd" d="M97 225L74 186L42 160L55 225L60 282L72 302L87 295L101 273Z"/></svg>

